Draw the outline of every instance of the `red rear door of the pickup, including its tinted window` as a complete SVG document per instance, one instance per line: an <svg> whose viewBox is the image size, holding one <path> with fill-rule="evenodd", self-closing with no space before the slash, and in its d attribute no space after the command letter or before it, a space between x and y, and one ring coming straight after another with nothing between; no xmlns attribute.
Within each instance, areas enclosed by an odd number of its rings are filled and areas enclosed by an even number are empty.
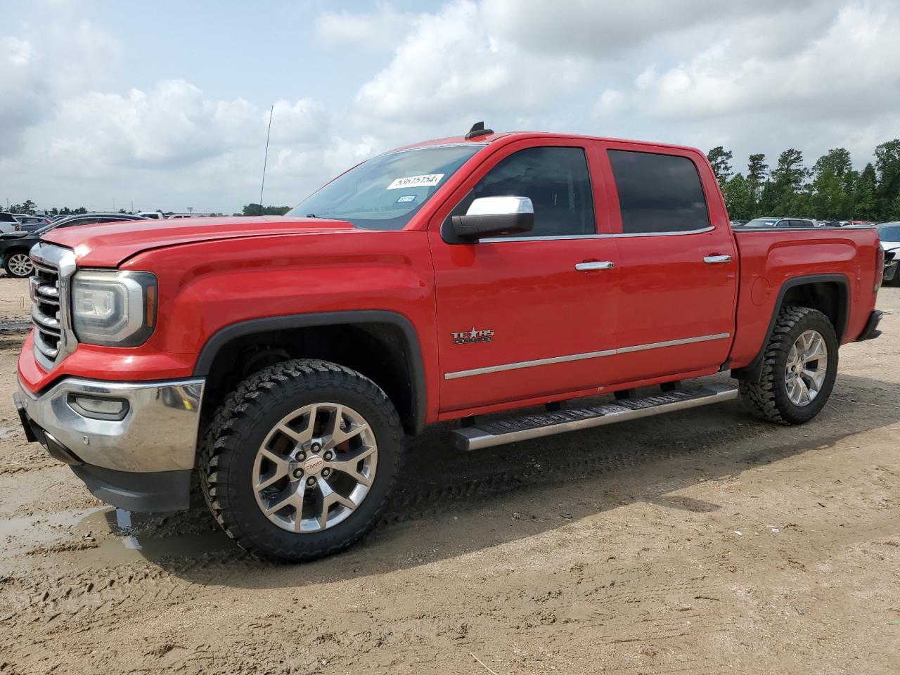
<svg viewBox="0 0 900 675"><path fill-rule="evenodd" d="M715 180L686 151L601 145L617 229L617 382L723 364L738 261Z"/></svg>

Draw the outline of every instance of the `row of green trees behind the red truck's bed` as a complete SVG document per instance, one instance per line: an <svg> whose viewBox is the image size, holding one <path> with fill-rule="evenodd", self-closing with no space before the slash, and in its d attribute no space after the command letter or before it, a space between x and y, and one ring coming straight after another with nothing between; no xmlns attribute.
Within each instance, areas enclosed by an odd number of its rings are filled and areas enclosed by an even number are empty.
<svg viewBox="0 0 900 675"><path fill-rule="evenodd" d="M731 150L707 153L728 215L734 219L797 216L816 220L900 220L900 139L875 148L875 162L862 171L846 148L833 148L812 168L803 153L788 148L774 168L763 154L751 155L746 174L733 173Z"/></svg>

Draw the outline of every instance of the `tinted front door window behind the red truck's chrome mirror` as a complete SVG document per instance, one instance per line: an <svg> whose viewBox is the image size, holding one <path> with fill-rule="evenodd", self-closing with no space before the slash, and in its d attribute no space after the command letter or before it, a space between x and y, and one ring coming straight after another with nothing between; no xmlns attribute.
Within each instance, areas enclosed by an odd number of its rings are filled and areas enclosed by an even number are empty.
<svg viewBox="0 0 900 675"><path fill-rule="evenodd" d="M457 206L465 213L478 197L528 197L535 228L513 236L561 237L595 234L594 197L588 160L581 148L528 148L502 160Z"/></svg>

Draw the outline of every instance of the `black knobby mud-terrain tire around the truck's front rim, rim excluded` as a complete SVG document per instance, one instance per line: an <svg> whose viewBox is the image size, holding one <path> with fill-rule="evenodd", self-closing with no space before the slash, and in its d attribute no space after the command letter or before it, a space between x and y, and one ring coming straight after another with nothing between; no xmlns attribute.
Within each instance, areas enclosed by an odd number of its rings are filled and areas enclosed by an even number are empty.
<svg viewBox="0 0 900 675"><path fill-rule="evenodd" d="M257 452L261 452L260 448L280 424L284 427L285 416L323 401L346 407L342 410L352 410L357 419L365 420L370 430L366 433L374 437L377 446L377 470L365 498L345 519L315 532L289 531L275 524L257 503L258 484L254 486L259 466ZM310 428L314 425L311 422ZM222 403L202 447L201 488L212 515L239 546L259 557L300 563L338 553L374 527L397 482L402 455L399 416L377 384L342 365L297 359L269 366L247 377ZM301 466L305 465L291 464L291 467ZM322 481L325 470L315 469L318 480ZM317 478L310 476L303 480L315 482ZM305 499L309 500L310 496ZM329 507L324 512L327 517ZM294 514L294 522L302 518L301 510Z"/></svg>

